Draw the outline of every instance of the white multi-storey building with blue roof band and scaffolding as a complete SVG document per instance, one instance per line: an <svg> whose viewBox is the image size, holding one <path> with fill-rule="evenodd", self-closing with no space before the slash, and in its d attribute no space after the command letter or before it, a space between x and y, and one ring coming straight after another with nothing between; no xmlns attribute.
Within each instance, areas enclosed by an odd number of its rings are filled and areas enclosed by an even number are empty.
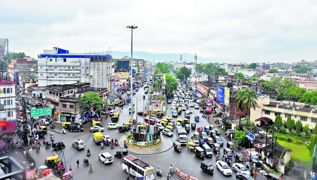
<svg viewBox="0 0 317 180"><path fill-rule="evenodd" d="M111 88L114 67L109 54L69 54L53 48L38 58L38 86L90 83L92 88Z"/></svg>

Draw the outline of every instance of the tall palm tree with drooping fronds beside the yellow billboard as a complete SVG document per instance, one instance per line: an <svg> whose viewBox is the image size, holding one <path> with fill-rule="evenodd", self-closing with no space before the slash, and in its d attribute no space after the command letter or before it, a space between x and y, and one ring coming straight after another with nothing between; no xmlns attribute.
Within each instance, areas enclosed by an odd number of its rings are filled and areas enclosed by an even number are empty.
<svg viewBox="0 0 317 180"><path fill-rule="evenodd" d="M244 89L239 90L235 96L236 107L240 110L248 110L248 118L250 109L256 109L257 106L257 93L252 90Z"/></svg>

